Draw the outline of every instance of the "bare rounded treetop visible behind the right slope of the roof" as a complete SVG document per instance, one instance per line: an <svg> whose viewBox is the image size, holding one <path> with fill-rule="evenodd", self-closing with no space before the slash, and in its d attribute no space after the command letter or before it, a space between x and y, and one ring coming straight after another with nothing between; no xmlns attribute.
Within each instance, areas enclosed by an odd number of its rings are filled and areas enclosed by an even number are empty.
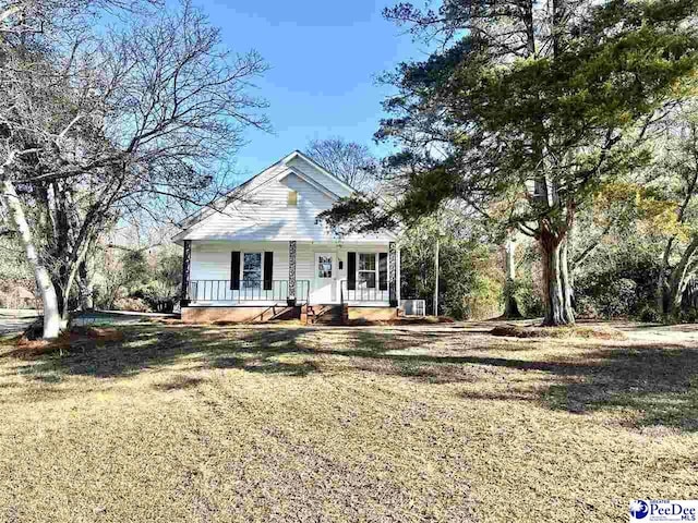
<svg viewBox="0 0 698 523"><path fill-rule="evenodd" d="M376 181L377 161L365 145L340 137L314 139L305 154L357 191L365 191Z"/></svg>

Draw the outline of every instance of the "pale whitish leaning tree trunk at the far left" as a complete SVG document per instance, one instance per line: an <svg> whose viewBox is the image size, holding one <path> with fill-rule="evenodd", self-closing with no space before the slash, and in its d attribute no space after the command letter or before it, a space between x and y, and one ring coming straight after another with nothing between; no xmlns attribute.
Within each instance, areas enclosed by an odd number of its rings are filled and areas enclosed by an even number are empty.
<svg viewBox="0 0 698 523"><path fill-rule="evenodd" d="M8 209L14 221L15 227L20 231L20 238L22 240L22 246L26 254L26 258L34 270L34 278L36 279L36 285L41 294L41 301L44 302L44 338L53 339L60 333L60 313L58 311L58 297L56 295L56 289L51 282L51 277L46 267L40 263L36 253L36 246L34 245L34 239L32 231L26 221L22 203L17 197L17 193L14 188L14 184L4 180L2 182L4 197L7 200Z"/></svg>

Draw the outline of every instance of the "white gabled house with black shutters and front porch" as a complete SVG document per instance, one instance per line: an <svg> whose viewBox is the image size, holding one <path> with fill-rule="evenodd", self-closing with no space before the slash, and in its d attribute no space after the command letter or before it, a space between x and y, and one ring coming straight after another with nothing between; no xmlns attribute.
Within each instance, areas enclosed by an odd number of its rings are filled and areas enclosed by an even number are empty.
<svg viewBox="0 0 698 523"><path fill-rule="evenodd" d="M182 223L184 320L397 314L394 232L336 236L317 215L353 190L300 151Z"/></svg>

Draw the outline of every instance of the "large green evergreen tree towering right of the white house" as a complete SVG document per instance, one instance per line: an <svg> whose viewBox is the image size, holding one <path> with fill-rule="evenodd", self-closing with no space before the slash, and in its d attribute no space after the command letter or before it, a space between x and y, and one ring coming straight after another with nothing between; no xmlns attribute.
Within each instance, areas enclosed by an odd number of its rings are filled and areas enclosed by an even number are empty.
<svg viewBox="0 0 698 523"><path fill-rule="evenodd" d="M390 212L344 202L330 221L381 227L462 202L532 236L545 325L573 324L568 235L594 190L646 165L653 125L690 95L695 0L445 0L389 19L441 45L388 80L378 137L409 181ZM495 209L496 211L493 211Z"/></svg>

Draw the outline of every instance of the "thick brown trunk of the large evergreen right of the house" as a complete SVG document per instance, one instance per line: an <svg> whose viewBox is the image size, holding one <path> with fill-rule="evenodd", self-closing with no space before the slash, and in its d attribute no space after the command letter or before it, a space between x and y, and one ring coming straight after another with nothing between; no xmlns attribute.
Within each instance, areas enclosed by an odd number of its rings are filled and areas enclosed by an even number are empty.
<svg viewBox="0 0 698 523"><path fill-rule="evenodd" d="M571 288L567 267L567 245L563 233L543 229L539 239L543 259L543 294L545 317L543 325L574 325Z"/></svg>

